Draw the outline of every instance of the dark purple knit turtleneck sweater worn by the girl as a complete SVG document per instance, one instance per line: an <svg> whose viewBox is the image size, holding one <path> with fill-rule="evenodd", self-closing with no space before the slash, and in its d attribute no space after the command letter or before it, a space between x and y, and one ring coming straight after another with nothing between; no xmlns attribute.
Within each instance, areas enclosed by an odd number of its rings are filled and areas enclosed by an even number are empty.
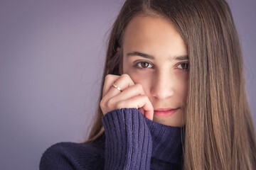
<svg viewBox="0 0 256 170"><path fill-rule="evenodd" d="M181 169L182 128L148 120L136 108L110 111L102 121L97 140L51 146L40 169Z"/></svg>

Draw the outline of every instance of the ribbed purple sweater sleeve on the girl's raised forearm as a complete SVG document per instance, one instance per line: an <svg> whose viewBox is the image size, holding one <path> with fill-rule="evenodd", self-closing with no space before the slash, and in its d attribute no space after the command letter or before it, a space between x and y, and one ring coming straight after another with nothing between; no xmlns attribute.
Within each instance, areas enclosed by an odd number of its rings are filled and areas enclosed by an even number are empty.
<svg viewBox="0 0 256 170"><path fill-rule="evenodd" d="M152 140L142 113L136 108L110 111L105 128L105 169L150 169Z"/></svg>

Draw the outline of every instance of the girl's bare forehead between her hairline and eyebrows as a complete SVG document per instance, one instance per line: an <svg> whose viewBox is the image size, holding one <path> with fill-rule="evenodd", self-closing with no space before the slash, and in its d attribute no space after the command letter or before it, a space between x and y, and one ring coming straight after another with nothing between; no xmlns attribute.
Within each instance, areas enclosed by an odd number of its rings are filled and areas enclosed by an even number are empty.
<svg viewBox="0 0 256 170"><path fill-rule="evenodd" d="M129 22L123 39L124 51L140 50L151 55L186 55L186 45L166 18L139 15Z"/></svg>

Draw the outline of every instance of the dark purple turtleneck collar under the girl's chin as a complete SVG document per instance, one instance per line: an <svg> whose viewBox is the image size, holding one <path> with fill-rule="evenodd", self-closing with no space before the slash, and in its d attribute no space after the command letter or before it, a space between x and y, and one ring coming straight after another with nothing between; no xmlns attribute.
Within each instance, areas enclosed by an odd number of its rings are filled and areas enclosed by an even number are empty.
<svg viewBox="0 0 256 170"><path fill-rule="evenodd" d="M152 157L181 164L182 162L182 128L162 125L145 118L152 137Z"/></svg>

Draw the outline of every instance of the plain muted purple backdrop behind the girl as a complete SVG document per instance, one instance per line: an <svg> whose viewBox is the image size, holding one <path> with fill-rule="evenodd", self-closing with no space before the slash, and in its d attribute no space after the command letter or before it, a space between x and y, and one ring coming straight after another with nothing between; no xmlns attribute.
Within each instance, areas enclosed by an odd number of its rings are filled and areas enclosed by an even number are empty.
<svg viewBox="0 0 256 170"><path fill-rule="evenodd" d="M256 1L228 0L256 123ZM94 115L108 30L121 0L0 1L0 169L38 169L56 142L81 142Z"/></svg>

